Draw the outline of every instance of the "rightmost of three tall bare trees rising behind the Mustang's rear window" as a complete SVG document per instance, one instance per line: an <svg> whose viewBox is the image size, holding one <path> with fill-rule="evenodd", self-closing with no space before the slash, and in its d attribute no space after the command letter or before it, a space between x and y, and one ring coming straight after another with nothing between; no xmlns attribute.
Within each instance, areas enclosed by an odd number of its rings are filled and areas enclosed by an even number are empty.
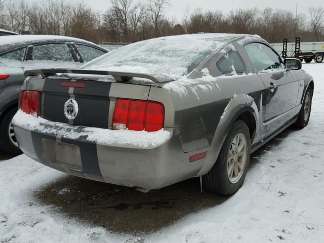
<svg viewBox="0 0 324 243"><path fill-rule="evenodd" d="M169 5L168 0L149 0L149 11L154 26L155 37L159 36L159 25L164 18L164 10Z"/></svg>

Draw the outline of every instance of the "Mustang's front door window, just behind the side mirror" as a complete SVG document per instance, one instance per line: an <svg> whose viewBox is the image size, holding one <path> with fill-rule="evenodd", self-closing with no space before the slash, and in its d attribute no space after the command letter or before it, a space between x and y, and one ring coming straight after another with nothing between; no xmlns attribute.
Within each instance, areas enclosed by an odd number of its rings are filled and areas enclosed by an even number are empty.
<svg viewBox="0 0 324 243"><path fill-rule="evenodd" d="M281 67L281 58L266 45L251 43L244 48L257 71Z"/></svg>

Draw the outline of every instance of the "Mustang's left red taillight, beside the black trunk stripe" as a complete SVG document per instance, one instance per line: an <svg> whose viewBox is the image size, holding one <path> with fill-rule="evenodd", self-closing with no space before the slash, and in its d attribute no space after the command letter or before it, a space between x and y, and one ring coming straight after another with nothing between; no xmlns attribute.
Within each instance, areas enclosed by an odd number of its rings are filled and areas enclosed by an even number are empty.
<svg viewBox="0 0 324 243"><path fill-rule="evenodd" d="M37 117L39 112L39 97L41 97L41 93L38 91L23 91L20 97L20 109L27 114Z"/></svg>

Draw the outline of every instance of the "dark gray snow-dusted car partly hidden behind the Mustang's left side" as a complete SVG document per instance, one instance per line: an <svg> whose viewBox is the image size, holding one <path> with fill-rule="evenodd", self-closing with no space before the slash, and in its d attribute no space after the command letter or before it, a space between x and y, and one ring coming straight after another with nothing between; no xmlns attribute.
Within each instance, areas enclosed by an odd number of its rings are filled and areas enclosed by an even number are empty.
<svg viewBox="0 0 324 243"><path fill-rule="evenodd" d="M0 149L21 153L11 125L17 111L24 71L34 68L77 68L107 50L83 39L52 35L0 38Z"/></svg>

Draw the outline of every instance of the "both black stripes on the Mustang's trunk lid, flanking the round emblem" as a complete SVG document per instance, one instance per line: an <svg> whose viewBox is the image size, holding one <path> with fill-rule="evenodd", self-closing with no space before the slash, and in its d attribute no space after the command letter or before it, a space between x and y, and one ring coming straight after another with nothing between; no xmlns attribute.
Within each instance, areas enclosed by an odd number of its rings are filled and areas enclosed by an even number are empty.
<svg viewBox="0 0 324 243"><path fill-rule="evenodd" d="M70 99L68 87L61 87L68 79L48 78L44 85L44 118L60 123L68 123L64 115L64 104ZM85 88L74 88L73 95L78 103L78 114L73 125L108 128L110 82L77 80L86 83Z"/></svg>

